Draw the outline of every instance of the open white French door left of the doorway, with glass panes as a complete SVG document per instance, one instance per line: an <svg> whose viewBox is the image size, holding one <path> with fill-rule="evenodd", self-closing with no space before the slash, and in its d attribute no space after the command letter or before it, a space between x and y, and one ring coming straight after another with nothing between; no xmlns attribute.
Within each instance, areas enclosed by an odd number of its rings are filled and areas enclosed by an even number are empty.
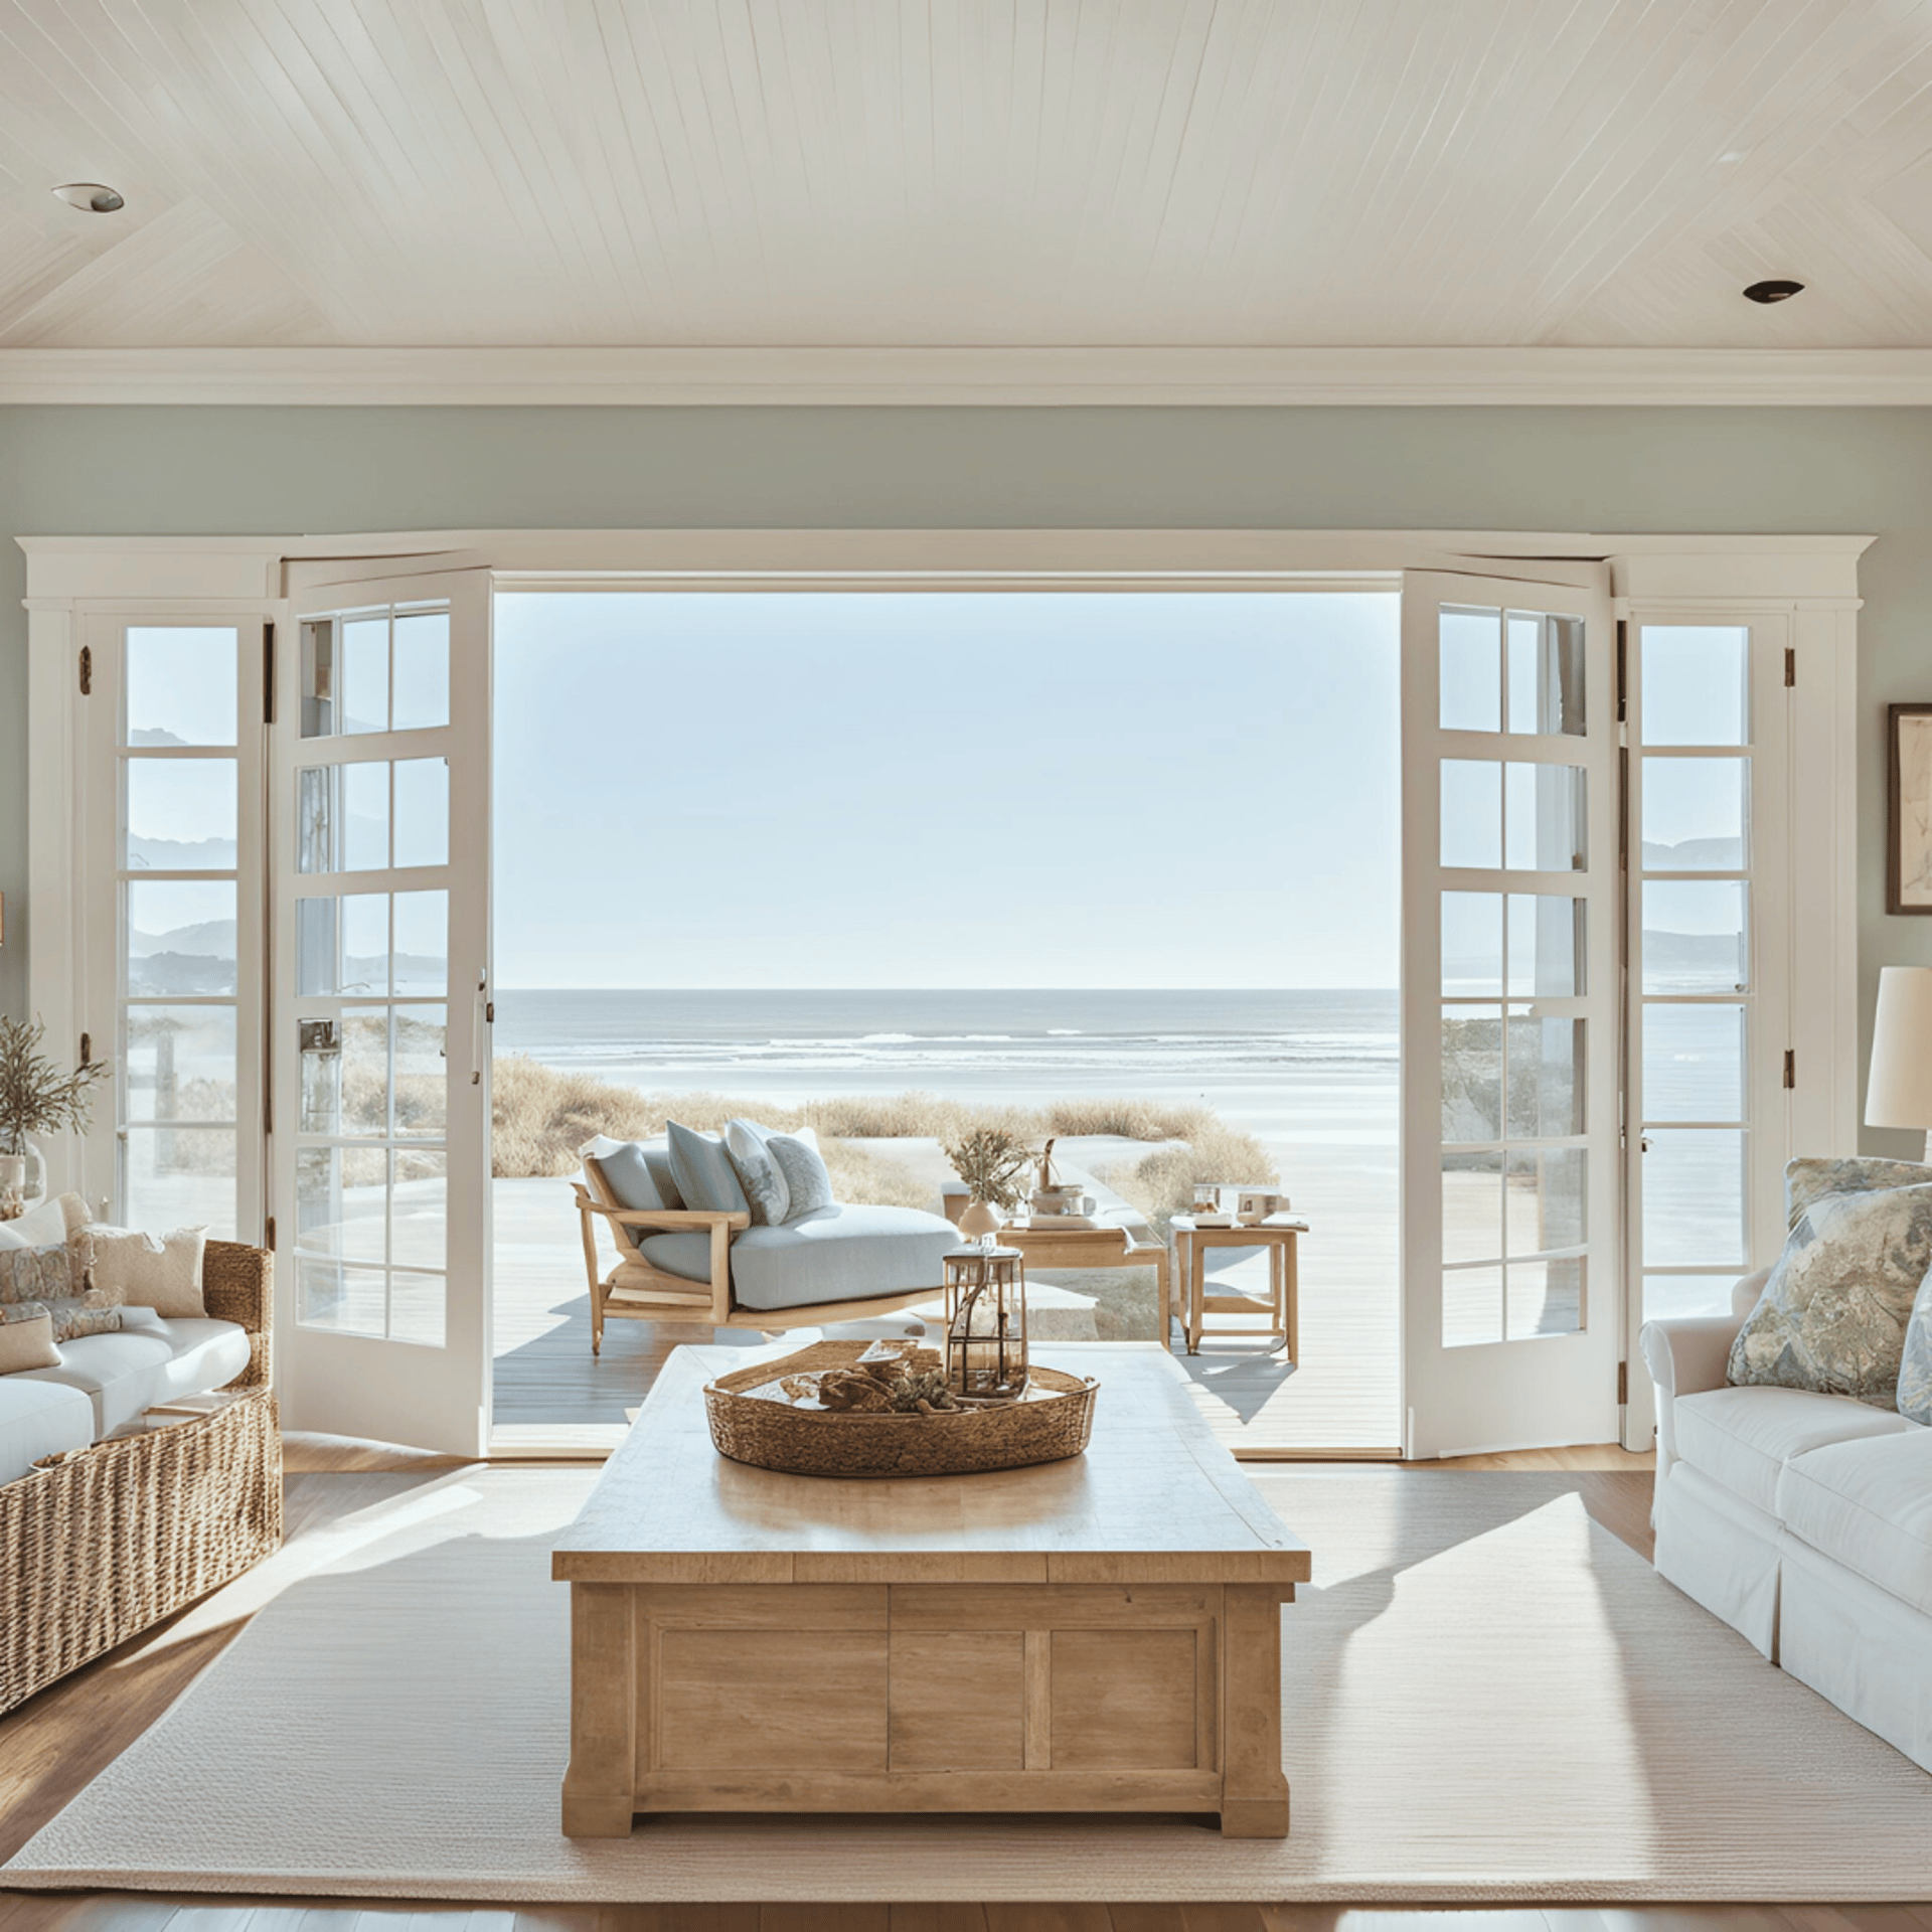
<svg viewBox="0 0 1932 1932"><path fill-rule="evenodd" d="M489 1434L489 572L298 593L270 744L284 1422Z"/></svg>

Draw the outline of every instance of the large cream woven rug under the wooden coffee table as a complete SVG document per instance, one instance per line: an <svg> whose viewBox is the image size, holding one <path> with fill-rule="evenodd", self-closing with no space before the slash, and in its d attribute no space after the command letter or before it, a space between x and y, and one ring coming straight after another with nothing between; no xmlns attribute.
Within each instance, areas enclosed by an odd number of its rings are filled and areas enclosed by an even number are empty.
<svg viewBox="0 0 1932 1932"><path fill-rule="evenodd" d="M1555 1476L1294 1470L1293 1832L1194 1818L653 1818L558 1832L587 1470L458 1470L311 1532L0 1886L512 1901L1924 1897L1932 1777Z"/></svg>

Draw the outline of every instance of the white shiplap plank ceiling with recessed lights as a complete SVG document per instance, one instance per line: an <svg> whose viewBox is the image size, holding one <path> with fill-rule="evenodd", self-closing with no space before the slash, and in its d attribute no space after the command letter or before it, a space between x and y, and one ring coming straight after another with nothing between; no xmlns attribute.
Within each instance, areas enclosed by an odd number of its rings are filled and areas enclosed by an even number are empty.
<svg viewBox="0 0 1932 1932"><path fill-rule="evenodd" d="M1932 6L0 0L0 350L408 344L1926 348Z"/></svg>

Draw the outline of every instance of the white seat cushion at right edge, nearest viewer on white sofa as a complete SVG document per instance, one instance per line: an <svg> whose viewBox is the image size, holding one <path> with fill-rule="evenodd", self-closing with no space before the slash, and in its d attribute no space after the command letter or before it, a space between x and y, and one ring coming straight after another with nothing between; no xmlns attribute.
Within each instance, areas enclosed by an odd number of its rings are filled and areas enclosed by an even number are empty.
<svg viewBox="0 0 1932 1932"><path fill-rule="evenodd" d="M1932 1615L1932 1430L1832 1443L1777 1478L1785 1530Z"/></svg>

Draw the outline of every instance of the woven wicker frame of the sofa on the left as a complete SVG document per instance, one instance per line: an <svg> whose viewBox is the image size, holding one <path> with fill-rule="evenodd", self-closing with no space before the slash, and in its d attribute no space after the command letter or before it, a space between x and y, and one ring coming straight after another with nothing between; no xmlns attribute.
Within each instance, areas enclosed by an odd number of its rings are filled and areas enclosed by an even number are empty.
<svg viewBox="0 0 1932 1932"><path fill-rule="evenodd" d="M282 1542L274 1256L211 1240L211 1316L247 1329L243 1399L0 1484L0 1712L185 1609Z"/></svg>

